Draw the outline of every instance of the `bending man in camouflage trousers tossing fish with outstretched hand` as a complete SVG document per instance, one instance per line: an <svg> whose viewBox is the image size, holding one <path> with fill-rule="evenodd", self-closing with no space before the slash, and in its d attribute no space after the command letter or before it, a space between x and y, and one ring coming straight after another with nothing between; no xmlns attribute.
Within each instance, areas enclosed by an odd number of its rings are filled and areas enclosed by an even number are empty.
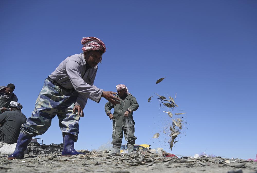
<svg viewBox="0 0 257 173"><path fill-rule="evenodd" d="M97 64L106 51L105 44L96 37L84 37L81 44L83 53L67 57L45 80L32 116L22 124L15 151L9 160L22 159L32 137L47 131L56 115L63 136L62 156L81 154L74 149L74 142L78 139L78 122L84 117L87 99L98 103L104 97L114 105L119 103L113 95L115 92L103 91L93 85Z"/></svg>

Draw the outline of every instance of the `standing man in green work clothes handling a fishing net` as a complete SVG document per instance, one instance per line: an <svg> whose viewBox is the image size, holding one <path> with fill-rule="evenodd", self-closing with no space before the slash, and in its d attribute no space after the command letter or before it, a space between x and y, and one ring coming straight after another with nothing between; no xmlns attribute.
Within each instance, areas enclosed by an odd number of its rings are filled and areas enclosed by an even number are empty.
<svg viewBox="0 0 257 173"><path fill-rule="evenodd" d="M120 104L113 105L111 102L105 104L105 112L111 120L113 120L112 144L115 152L120 152L123 132L127 141L128 153L134 150L136 137L135 122L133 120L133 112L139 107L136 98L128 92L125 85L116 86L118 95L115 97L120 99ZM113 114L111 109L114 108Z"/></svg>

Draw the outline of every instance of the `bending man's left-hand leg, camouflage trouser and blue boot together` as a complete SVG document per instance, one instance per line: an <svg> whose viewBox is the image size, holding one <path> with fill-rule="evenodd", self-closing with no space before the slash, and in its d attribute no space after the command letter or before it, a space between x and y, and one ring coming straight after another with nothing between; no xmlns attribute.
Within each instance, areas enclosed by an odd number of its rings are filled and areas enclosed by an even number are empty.
<svg viewBox="0 0 257 173"><path fill-rule="evenodd" d="M32 136L41 135L47 131L51 125L52 118L57 114L59 105L66 101L69 96L61 93L61 89L52 84L51 81L45 80L44 87L39 93L36 100L35 109L32 116L22 124L21 133L17 141L15 151L16 159L22 159L22 153L26 150ZM14 159L15 157L11 157ZM19 157L18 157L19 156Z"/></svg>

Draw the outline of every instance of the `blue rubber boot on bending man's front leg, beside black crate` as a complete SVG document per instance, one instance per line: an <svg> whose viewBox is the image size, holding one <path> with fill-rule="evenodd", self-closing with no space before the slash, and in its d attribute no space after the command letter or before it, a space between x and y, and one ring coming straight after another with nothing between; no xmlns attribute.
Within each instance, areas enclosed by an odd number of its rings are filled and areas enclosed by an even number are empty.
<svg viewBox="0 0 257 173"><path fill-rule="evenodd" d="M63 137L62 156L72 156L76 154L85 154L84 152L77 152L74 149L75 138L72 134L66 133Z"/></svg>

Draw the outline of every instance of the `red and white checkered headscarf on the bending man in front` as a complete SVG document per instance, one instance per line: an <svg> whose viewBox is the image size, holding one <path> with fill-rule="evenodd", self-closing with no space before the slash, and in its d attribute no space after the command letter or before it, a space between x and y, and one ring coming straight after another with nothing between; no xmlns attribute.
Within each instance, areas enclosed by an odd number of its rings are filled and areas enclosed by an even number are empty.
<svg viewBox="0 0 257 173"><path fill-rule="evenodd" d="M101 50L105 53L106 51L104 42L96 37L83 37L81 44L83 52Z"/></svg>

